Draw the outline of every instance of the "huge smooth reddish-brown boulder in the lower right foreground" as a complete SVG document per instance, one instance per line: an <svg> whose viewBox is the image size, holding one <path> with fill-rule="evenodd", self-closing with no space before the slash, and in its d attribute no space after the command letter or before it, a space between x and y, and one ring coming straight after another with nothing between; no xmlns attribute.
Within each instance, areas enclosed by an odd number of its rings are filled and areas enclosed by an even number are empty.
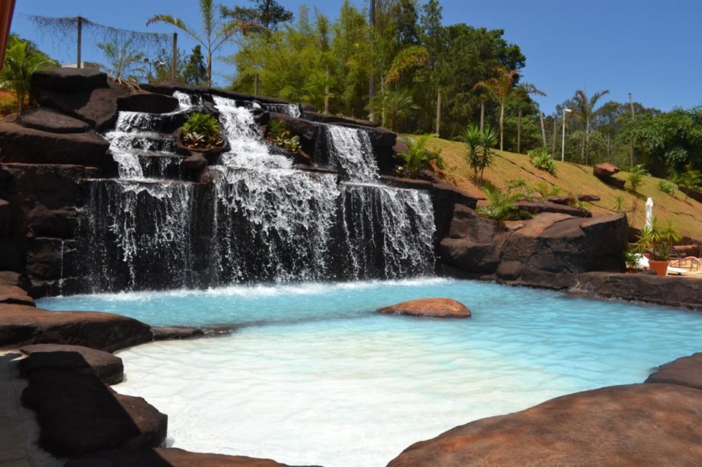
<svg viewBox="0 0 702 467"><path fill-rule="evenodd" d="M388 467L701 464L702 391L633 384L457 426L411 445Z"/></svg>

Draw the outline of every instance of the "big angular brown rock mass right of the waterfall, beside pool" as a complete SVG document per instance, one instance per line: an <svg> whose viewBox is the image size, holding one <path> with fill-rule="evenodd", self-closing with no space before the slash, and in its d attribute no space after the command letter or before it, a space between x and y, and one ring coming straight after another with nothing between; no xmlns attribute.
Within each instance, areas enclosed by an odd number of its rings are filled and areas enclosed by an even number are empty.
<svg viewBox="0 0 702 467"><path fill-rule="evenodd" d="M449 236L441 242L441 257L468 276L567 288L575 285L578 273L624 269L624 215L581 219L543 213L497 224L456 208Z"/></svg>

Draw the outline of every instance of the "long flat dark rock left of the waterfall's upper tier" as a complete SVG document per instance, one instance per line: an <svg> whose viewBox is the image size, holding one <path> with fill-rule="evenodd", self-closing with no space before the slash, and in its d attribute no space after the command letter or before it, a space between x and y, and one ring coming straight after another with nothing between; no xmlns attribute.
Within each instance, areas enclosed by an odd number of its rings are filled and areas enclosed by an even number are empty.
<svg viewBox="0 0 702 467"><path fill-rule="evenodd" d="M4 163L114 165L110 143L96 133L48 133L0 121L0 147Z"/></svg>

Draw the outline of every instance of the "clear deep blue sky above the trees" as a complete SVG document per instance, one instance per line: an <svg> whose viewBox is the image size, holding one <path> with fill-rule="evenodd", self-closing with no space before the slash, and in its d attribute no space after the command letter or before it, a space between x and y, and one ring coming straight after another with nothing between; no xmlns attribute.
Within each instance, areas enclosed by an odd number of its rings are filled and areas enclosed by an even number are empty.
<svg viewBox="0 0 702 467"><path fill-rule="evenodd" d="M420 0L421 1L421 0ZM250 5L248 0L225 1L227 6ZM279 0L296 12L300 4L317 6L336 18L342 0ZM367 0L352 0L364 6ZM441 1L444 24L465 22L475 27L505 29L527 57L524 79L548 94L536 97L545 114L569 99L576 89L588 95L609 89L604 100L626 102L628 93L647 107L670 110L702 104L702 2L699 0L567 0ZM145 32L173 32L151 25L148 18L170 13L199 27L197 0L17 0L13 30L39 44L64 62L74 62L73 50L54 44L32 30L18 13L46 16L81 15L93 22ZM194 42L178 34L180 48ZM225 48L225 55L234 52ZM86 57L90 60L90 57ZM99 61L100 57L93 59ZM215 72L232 69L215 63ZM220 83L224 83L220 79Z"/></svg>

